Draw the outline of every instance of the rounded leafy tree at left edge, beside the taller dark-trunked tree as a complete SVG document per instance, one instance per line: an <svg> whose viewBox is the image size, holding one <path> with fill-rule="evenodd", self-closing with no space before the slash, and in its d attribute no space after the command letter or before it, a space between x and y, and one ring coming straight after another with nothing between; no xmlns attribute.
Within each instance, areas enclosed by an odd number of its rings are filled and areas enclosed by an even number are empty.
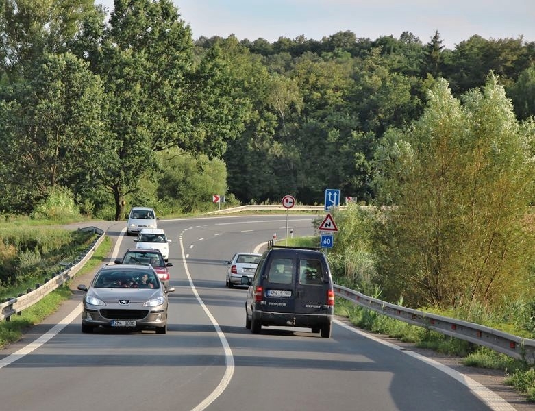
<svg viewBox="0 0 535 411"><path fill-rule="evenodd" d="M74 55L45 55L29 80L3 88L0 140L5 208L32 210L50 187L94 183L107 139L103 86Z"/></svg>

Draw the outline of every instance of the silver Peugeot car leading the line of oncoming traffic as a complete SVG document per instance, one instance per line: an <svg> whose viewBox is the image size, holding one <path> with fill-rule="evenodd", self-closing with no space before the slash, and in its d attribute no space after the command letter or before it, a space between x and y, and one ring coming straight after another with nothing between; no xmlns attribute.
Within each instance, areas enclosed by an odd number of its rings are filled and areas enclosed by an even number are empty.
<svg viewBox="0 0 535 411"><path fill-rule="evenodd" d="M167 295L175 288L164 287L149 265L103 266L89 287L80 284L78 290L86 292L82 332L99 326L167 331Z"/></svg>

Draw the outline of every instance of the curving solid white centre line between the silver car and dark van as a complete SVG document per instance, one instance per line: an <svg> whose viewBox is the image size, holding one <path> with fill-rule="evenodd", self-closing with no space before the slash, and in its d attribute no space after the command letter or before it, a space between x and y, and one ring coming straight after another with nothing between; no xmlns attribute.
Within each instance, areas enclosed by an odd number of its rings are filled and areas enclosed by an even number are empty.
<svg viewBox="0 0 535 411"><path fill-rule="evenodd" d="M225 334L223 334L223 331L221 331L221 327L219 327L219 324L217 323L216 319L208 310L208 307L206 307L204 301L201 299L201 296L199 295L199 292L197 292L197 288L195 288L195 285L193 284L193 280L190 275L190 271L188 270L188 264L186 264L186 256L184 254L184 244L182 240L180 240L180 252L182 253L182 261L184 262L184 270L186 271L186 275L188 276L188 281L190 283L191 290L193 294L195 295L195 298L197 301L199 301L199 305L203 308L204 312L206 312L206 315L212 322L212 325L214 325L214 328L216 329L217 336L219 336L219 340L221 340L221 345L223 346L223 351L225 351L225 374L223 375L223 378L221 379L221 382L219 382L218 386L206 397L201 403L199 403L198 406L195 408L192 408L192 411L202 411L212 402L214 402L217 397L219 397L221 394L223 394L223 391L225 391L225 388L230 384L230 380L232 379L232 375L234 375L234 356L232 355L232 349L230 349L230 345L227 341L227 338L225 338Z"/></svg>

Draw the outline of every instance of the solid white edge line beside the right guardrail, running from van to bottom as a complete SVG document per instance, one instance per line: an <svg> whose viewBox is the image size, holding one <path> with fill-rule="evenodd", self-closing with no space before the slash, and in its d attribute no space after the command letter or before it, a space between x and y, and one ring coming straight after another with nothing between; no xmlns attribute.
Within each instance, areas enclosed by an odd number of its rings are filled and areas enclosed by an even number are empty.
<svg viewBox="0 0 535 411"><path fill-rule="evenodd" d="M399 347L399 345L395 345L388 341L381 340L380 338L377 338L375 336L371 336L370 334L366 334L365 332L360 331L360 329L350 327L349 325L344 324L341 321L334 320L334 322L338 325L341 325L345 329L348 329L349 331L354 332L355 334L359 334L360 336L363 336L363 337L369 338L370 340L375 341L375 343L380 343L382 345L386 345L387 347L397 349L398 351L401 351L402 353L405 353L408 356L412 356L416 358L417 360L420 360L420 361L425 362L426 364L429 364L430 366L434 366L436 369L442 371L443 373L446 373L450 377L456 379L458 382L460 382L461 384L469 388L469 390L471 391L471 393L473 393L473 395L475 395L476 397L479 397L493 411L515 411L514 407L512 407L510 403L508 403L505 399L501 398L496 393L493 393L493 391L486 388L486 386L471 379L470 377L467 377L466 375L462 373L459 373L458 371L455 371L454 369L451 369L447 365L441 364L440 362L436 360L432 360L431 358L422 356L421 354L415 353L414 351L403 349L403 347Z"/></svg>

